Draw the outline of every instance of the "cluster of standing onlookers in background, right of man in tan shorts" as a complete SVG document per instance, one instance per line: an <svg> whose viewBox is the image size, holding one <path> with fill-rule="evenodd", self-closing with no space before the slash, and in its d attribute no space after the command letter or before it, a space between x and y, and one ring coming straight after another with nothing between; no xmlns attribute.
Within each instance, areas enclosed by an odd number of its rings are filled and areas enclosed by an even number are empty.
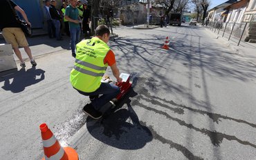
<svg viewBox="0 0 256 160"><path fill-rule="evenodd" d="M61 34L63 19L66 35L71 37L72 56L75 57L75 45L80 41L81 32L84 33L84 38L90 37L91 13L87 8L87 3L77 0L64 1L62 9L58 10L55 0L44 2L44 20L47 23L49 38L56 37L57 41L63 40Z"/></svg>

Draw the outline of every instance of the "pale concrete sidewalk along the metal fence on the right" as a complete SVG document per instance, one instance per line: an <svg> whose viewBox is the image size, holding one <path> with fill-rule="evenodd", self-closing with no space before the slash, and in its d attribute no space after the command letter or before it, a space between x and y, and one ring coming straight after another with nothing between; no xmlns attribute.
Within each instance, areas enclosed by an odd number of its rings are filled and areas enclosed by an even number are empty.
<svg viewBox="0 0 256 160"><path fill-rule="evenodd" d="M217 32L214 33L208 28L205 28L205 30L216 35L217 39L219 39L219 41L221 41L224 46L227 46L233 50L235 54L238 54L239 56L246 59L246 61L249 61L250 63L253 63L254 66L256 66L256 43L248 43L241 40L239 46L237 46L239 39L231 37L228 41L227 36L222 37L222 34L217 34Z"/></svg>

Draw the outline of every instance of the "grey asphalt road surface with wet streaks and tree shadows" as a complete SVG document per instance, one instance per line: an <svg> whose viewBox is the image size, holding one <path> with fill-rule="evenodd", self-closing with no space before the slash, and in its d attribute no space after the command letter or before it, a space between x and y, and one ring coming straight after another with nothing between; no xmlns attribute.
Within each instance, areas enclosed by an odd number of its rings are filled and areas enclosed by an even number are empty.
<svg viewBox="0 0 256 160"><path fill-rule="evenodd" d="M117 110L101 122L82 113L89 98L68 81L68 43L51 40L55 50L38 56L37 68L27 63L0 79L0 157L41 159L39 125L46 122L82 160L256 159L252 63L199 26L114 32L119 37L109 45L118 67L134 75ZM166 37L170 50L161 49ZM30 41L38 43L34 51L42 48L42 37ZM46 44L42 50L50 50Z"/></svg>

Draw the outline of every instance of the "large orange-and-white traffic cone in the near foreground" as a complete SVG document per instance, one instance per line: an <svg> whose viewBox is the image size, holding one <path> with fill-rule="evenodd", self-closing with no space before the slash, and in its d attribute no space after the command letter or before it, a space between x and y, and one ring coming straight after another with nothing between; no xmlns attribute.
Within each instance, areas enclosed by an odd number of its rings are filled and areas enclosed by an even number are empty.
<svg viewBox="0 0 256 160"><path fill-rule="evenodd" d="M44 158L45 159L61 159L61 160L78 160L77 152L70 147L64 149L60 146L53 132L48 129L46 123L42 123L40 126L43 146L44 146Z"/></svg>

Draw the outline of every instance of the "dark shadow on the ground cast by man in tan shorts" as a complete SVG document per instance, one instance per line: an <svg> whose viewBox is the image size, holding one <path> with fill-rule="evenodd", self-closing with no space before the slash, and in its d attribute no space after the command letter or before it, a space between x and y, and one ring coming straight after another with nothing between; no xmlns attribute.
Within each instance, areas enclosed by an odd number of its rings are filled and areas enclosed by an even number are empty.
<svg viewBox="0 0 256 160"><path fill-rule="evenodd" d="M28 70L21 68L15 74L3 77L4 85L2 88L4 90L10 90L14 93L22 92L27 86L44 80L44 72L44 70L36 69L35 67ZM37 76L39 76L39 78L37 78ZM12 79L12 83L10 83L10 79Z"/></svg>

